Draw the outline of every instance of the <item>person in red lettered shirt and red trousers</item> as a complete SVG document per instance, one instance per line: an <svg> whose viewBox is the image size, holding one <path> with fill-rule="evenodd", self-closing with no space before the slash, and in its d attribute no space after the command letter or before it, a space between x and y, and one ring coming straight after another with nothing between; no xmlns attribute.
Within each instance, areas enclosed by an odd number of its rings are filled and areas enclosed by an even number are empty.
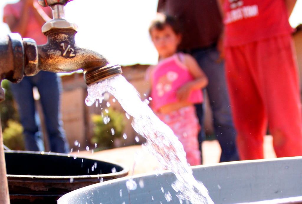
<svg viewBox="0 0 302 204"><path fill-rule="evenodd" d="M288 18L296 0L222 0L224 55L240 159L302 155L301 96Z"/></svg>

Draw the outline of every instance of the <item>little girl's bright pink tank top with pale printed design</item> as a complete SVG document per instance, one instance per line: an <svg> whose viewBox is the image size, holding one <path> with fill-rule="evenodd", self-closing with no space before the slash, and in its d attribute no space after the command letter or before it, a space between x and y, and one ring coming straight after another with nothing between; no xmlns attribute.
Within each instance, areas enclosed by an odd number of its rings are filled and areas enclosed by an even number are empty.
<svg viewBox="0 0 302 204"><path fill-rule="evenodd" d="M159 62L151 72L151 98L152 108L157 111L163 105L178 102L176 92L185 83L194 80L187 67L180 61L182 53L177 53ZM201 89L190 93L189 102L203 101Z"/></svg>

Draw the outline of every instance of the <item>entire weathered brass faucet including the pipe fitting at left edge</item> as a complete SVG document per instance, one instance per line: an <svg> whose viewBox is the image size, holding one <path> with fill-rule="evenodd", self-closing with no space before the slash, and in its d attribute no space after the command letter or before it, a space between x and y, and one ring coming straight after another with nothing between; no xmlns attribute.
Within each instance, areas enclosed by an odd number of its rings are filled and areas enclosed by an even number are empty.
<svg viewBox="0 0 302 204"><path fill-rule="evenodd" d="M120 65L111 65L103 55L76 46L76 24L65 20L64 6L72 0L39 0L43 7L50 6L53 19L46 22L42 32L47 36L45 45L17 33L0 37L0 81L18 83L24 76L40 70L69 73L82 69L86 84L91 84L122 73ZM1 88L1 86L0 86ZM0 90L0 101L4 93Z"/></svg>

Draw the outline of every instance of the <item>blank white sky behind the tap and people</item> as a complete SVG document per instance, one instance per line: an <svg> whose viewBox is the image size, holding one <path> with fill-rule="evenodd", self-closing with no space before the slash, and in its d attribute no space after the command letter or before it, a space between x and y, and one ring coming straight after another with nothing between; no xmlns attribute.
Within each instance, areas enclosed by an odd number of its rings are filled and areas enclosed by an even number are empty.
<svg viewBox="0 0 302 204"><path fill-rule="evenodd" d="M3 6L18 0L1 0ZM93 49L113 64L155 64L157 53L148 27L158 0L74 0L65 7L66 19L79 27L78 46ZM302 0L297 0L290 18L292 27L302 24ZM0 35L9 30L0 24Z"/></svg>

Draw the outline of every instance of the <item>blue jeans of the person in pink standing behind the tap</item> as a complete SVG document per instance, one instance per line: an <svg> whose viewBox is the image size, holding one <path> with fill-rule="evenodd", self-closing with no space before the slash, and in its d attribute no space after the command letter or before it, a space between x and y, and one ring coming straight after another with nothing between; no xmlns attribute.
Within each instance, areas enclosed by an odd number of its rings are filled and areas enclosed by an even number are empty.
<svg viewBox="0 0 302 204"><path fill-rule="evenodd" d="M66 140L59 104L62 89L61 78L56 73L40 71L37 75L24 77L23 80L11 83L11 91L18 105L20 122L24 128L25 149L44 151L43 137L35 120L36 108L33 87L40 93L45 125L51 152L67 153L69 145Z"/></svg>

